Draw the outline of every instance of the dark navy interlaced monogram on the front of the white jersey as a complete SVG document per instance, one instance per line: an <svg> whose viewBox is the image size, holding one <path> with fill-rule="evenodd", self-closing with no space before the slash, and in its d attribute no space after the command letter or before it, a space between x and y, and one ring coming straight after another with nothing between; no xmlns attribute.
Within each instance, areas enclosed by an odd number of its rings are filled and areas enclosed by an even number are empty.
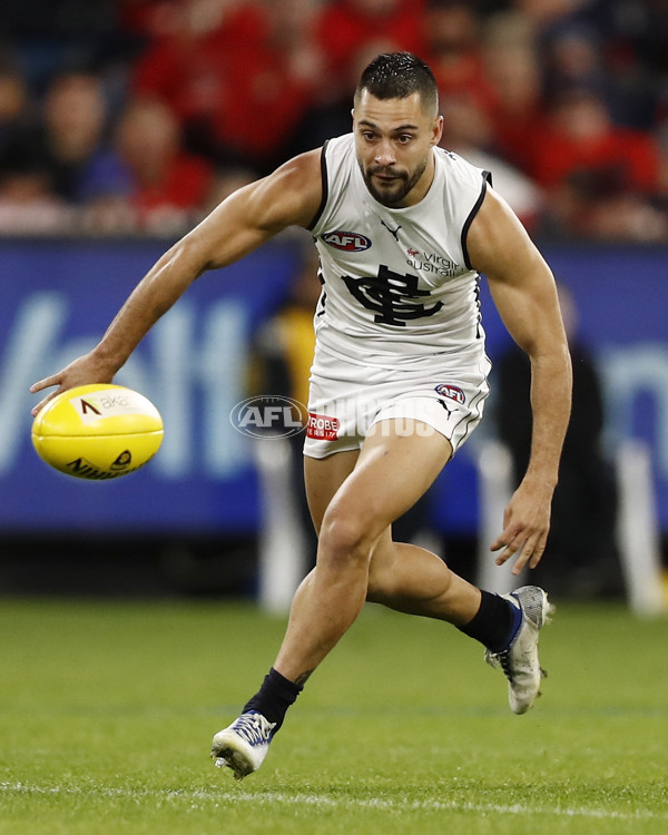
<svg viewBox="0 0 668 835"><path fill-rule="evenodd" d="M416 275L402 275L381 265L377 278L353 278L344 275L343 281L353 296L367 311L375 313L374 322L405 327L406 321L433 316L443 306L436 302L425 307L418 299L429 296L428 289L418 287Z"/></svg>

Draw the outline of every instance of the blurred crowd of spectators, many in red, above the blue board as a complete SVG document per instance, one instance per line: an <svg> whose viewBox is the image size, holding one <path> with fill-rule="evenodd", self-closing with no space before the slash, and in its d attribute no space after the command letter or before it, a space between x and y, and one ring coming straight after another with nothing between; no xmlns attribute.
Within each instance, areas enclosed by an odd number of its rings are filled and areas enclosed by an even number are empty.
<svg viewBox="0 0 668 835"><path fill-rule="evenodd" d="M668 242L668 0L3 0L0 235L178 235L411 50L537 235Z"/></svg>

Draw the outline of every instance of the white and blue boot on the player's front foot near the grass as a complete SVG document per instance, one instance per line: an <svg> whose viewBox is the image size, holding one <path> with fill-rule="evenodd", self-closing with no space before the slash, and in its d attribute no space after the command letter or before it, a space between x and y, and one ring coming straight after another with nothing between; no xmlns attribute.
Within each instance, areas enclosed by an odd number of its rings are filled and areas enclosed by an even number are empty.
<svg viewBox="0 0 668 835"><path fill-rule="evenodd" d="M237 780L256 772L267 756L276 723L250 710L214 737L212 757L218 768L232 768Z"/></svg>

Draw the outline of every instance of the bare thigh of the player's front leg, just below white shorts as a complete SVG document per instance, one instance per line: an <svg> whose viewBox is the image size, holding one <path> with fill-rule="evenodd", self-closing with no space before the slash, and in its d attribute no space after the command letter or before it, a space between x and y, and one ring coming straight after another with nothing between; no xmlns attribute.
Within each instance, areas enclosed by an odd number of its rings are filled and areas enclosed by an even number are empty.
<svg viewBox="0 0 668 835"><path fill-rule="evenodd" d="M387 420L365 438L355 469L328 503L330 513L360 519L381 536L413 507L452 455L450 441L419 421Z"/></svg>

